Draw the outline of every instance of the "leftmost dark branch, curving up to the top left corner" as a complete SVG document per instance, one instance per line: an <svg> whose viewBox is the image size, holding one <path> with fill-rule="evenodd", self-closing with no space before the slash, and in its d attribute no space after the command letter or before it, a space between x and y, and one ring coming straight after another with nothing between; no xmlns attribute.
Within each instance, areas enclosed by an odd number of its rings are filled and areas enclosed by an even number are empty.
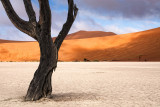
<svg viewBox="0 0 160 107"><path fill-rule="evenodd" d="M17 13L14 11L11 3L9 0L1 0L3 7L9 17L9 19L11 20L11 22L15 25L15 27L17 29L19 29L20 31L28 34L29 36L31 36L32 38L36 39L33 35L32 35L32 26L28 21L24 21L23 19L21 19Z"/></svg>

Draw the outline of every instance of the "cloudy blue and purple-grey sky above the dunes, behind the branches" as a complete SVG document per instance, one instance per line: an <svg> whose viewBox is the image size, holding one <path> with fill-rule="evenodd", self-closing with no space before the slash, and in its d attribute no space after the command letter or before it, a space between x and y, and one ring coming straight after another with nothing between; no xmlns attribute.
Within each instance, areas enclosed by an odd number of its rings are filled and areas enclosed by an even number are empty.
<svg viewBox="0 0 160 107"><path fill-rule="evenodd" d="M28 20L23 0L10 0L17 14ZM32 0L37 20L38 0ZM160 0L75 0L79 13L69 33L80 30L125 34L160 26ZM50 0L52 36L57 36L67 17L67 0ZM0 3L0 39L33 40L17 30Z"/></svg>

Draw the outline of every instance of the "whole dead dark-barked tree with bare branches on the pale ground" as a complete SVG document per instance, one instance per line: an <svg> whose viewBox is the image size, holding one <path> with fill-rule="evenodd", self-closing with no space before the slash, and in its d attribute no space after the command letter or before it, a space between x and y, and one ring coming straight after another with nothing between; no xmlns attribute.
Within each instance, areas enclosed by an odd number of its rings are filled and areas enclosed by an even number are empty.
<svg viewBox="0 0 160 107"><path fill-rule="evenodd" d="M51 38L51 9L48 0L38 0L40 6L39 21L32 6L31 0L23 0L29 21L21 19L14 11L10 0L1 0L11 22L20 31L38 41L40 47L40 64L29 85L25 100L35 101L48 97L52 93L51 77L57 67L58 50L68 34L78 13L73 0L68 0L68 17L58 37L53 42Z"/></svg>

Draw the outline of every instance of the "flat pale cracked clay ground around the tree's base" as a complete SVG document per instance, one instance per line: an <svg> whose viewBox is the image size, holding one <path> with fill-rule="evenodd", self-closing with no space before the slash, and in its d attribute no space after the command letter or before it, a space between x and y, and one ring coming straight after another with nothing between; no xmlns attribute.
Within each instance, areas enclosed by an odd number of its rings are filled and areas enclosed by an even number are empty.
<svg viewBox="0 0 160 107"><path fill-rule="evenodd" d="M0 107L160 107L160 62L61 62L53 98L24 102L38 63L0 63Z"/></svg>

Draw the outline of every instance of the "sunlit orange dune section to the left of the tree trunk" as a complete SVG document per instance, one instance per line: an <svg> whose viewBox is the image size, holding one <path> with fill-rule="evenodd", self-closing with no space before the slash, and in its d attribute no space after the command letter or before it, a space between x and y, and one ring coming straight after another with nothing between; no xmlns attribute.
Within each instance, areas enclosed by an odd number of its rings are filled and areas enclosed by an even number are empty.
<svg viewBox="0 0 160 107"><path fill-rule="evenodd" d="M40 56L36 42L2 43L0 54L1 61L38 61Z"/></svg>

